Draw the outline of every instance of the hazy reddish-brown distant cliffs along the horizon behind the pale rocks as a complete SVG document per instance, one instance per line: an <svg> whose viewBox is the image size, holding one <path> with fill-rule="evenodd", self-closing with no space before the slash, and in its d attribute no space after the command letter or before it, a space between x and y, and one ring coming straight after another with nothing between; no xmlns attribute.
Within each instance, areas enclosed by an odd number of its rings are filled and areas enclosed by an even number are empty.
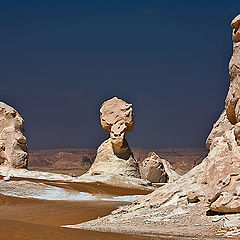
<svg viewBox="0 0 240 240"><path fill-rule="evenodd" d="M138 162L142 162L151 152L168 160L175 169L188 171L199 164L207 155L205 148L133 148ZM52 150L31 150L28 165L31 168L74 169L90 168L96 157L96 149L66 148Z"/></svg>

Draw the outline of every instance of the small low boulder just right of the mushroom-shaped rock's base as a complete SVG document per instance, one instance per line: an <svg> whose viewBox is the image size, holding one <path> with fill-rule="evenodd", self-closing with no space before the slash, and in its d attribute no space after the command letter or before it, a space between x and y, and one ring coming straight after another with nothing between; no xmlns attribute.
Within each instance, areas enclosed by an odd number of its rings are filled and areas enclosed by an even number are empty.
<svg viewBox="0 0 240 240"><path fill-rule="evenodd" d="M142 179L147 179L152 183L172 182L179 177L171 164L154 152L142 162L140 172Z"/></svg>

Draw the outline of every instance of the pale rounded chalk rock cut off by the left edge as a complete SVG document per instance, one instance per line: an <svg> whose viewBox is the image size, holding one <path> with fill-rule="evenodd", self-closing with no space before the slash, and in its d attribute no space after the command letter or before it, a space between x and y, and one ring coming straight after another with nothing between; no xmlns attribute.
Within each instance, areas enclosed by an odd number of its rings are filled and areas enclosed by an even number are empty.
<svg viewBox="0 0 240 240"><path fill-rule="evenodd" d="M0 102L0 167L27 168L28 148L20 114Z"/></svg>

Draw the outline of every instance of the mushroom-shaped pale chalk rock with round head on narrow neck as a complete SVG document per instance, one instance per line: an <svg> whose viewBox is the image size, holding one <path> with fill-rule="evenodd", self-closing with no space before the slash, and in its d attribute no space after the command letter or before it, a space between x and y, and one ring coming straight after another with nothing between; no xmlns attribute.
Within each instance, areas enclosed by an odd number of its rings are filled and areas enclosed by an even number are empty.
<svg viewBox="0 0 240 240"><path fill-rule="evenodd" d="M134 127L132 104L114 97L102 104L100 114L101 125L109 138L99 146L87 174L140 178L137 162L125 138L126 132Z"/></svg>

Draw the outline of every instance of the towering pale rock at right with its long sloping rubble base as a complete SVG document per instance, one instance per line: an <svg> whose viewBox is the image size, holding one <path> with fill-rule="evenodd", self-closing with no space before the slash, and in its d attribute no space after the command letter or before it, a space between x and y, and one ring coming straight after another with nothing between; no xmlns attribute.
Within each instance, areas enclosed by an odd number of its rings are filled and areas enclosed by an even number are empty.
<svg viewBox="0 0 240 240"><path fill-rule="evenodd" d="M121 231L134 231L136 226L139 228L138 224L146 221L150 229L158 227L158 233L192 237L240 236L240 15L231 26L234 47L229 64L231 82L226 112L222 113L209 135L208 156L176 181L109 216L80 224L78 228L114 231L121 227ZM174 213L176 210L181 214L179 217L179 213ZM166 212L169 217L162 217ZM214 216L213 213L223 215ZM229 217L227 213L235 214ZM171 228L169 223L174 227ZM141 229L153 231L143 224Z"/></svg>

